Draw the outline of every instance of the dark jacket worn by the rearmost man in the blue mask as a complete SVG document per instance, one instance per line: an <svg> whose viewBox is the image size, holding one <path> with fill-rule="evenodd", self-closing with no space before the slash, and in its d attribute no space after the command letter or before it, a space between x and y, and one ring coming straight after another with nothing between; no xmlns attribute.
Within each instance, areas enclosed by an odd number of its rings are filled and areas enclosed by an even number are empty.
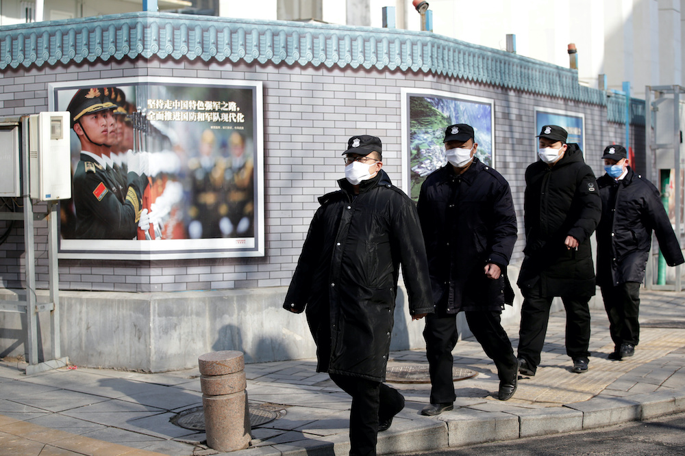
<svg viewBox="0 0 685 456"><path fill-rule="evenodd" d="M684 262L680 244L671 228L659 191L649 180L628 167L618 182L604 174L597 179L602 215L597 226L597 284L616 286L642 282L656 232L669 266Z"/></svg>

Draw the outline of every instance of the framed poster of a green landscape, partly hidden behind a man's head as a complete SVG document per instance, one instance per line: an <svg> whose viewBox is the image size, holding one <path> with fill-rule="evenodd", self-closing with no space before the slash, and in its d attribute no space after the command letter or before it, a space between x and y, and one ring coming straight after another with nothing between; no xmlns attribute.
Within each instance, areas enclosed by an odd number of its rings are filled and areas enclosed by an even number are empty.
<svg viewBox="0 0 685 456"><path fill-rule="evenodd" d="M478 144L476 156L495 166L495 101L437 90L402 89L402 189L419 199L426 176L447 163L445 129L469 124Z"/></svg>

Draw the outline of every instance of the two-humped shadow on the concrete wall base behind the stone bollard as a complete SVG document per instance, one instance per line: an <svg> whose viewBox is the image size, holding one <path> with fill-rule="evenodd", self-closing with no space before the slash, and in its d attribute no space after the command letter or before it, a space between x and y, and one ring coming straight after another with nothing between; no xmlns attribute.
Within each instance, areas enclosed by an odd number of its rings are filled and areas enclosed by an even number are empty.
<svg viewBox="0 0 685 456"><path fill-rule="evenodd" d="M252 348L248 348L252 347ZM257 340L247 343L242 339L242 332L236 325L224 325L219 329L212 350L237 350L242 351L246 363L271 362L293 360L295 356L286 345L285 338L259 337Z"/></svg>

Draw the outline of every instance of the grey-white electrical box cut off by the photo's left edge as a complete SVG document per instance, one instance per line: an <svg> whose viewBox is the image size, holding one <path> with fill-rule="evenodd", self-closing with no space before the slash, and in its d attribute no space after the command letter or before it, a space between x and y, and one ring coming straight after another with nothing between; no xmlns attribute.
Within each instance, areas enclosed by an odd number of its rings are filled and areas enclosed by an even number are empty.
<svg viewBox="0 0 685 456"><path fill-rule="evenodd" d="M0 197L21 196L19 120L0 120Z"/></svg>

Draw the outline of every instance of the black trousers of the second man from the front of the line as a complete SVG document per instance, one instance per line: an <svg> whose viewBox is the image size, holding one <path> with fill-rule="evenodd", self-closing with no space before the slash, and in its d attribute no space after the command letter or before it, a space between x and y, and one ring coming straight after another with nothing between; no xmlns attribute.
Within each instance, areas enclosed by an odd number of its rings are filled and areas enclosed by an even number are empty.
<svg viewBox="0 0 685 456"><path fill-rule="evenodd" d="M466 323L488 358L495 362L500 381L512 381L518 362L512 344L501 325L500 312L468 311ZM456 314L427 314L423 338L426 341L431 391L430 402L452 403L456 399L452 379L452 350L457 344Z"/></svg>

